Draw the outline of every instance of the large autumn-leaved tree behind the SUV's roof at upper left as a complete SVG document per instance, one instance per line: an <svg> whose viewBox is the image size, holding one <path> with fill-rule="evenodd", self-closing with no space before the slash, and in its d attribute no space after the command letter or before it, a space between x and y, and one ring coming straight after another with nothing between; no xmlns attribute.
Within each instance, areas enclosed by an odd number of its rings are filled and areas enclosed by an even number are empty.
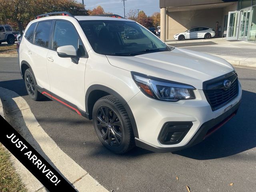
<svg viewBox="0 0 256 192"><path fill-rule="evenodd" d="M37 15L67 11L73 15L88 15L84 5L76 0L0 0L0 23L18 26L20 34Z"/></svg>

